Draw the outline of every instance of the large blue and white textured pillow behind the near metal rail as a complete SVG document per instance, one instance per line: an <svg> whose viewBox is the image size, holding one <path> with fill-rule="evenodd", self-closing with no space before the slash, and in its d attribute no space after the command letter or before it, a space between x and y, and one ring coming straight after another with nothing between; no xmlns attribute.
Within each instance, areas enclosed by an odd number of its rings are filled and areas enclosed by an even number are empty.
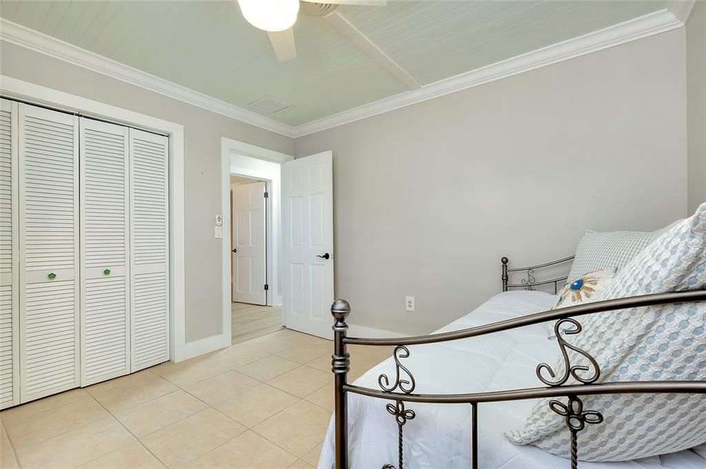
<svg viewBox="0 0 706 469"><path fill-rule="evenodd" d="M659 236L618 272L604 299L706 287L706 203L693 217ZM671 304L591 314L569 343L599 364L599 381L706 381L706 303ZM569 352L572 365L587 365ZM563 360L554 367L561 376ZM587 372L590 373L590 372ZM577 384L572 378L567 384ZM703 395L585 396L584 409L604 422L578 434L579 458L626 461L688 449L706 442ZM534 406L525 428L508 432L516 444L532 444L568 457L565 420L548 400Z"/></svg>

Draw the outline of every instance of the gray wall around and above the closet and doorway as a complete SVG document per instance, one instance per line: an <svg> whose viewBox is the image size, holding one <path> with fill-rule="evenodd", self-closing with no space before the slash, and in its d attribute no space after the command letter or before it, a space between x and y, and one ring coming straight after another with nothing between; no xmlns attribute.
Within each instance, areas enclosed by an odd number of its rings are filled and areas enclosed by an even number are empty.
<svg viewBox="0 0 706 469"><path fill-rule="evenodd" d="M222 332L220 213L221 137L292 155L294 140L28 49L0 43L0 71L73 95L184 125L186 187L186 340Z"/></svg>

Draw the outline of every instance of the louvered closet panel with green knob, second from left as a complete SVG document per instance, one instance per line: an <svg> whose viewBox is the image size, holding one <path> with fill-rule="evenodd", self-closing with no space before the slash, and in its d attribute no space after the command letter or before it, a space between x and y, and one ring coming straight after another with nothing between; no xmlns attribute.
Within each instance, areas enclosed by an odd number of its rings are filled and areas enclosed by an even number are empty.
<svg viewBox="0 0 706 469"><path fill-rule="evenodd" d="M75 388L78 373L78 117L20 103L20 391Z"/></svg>

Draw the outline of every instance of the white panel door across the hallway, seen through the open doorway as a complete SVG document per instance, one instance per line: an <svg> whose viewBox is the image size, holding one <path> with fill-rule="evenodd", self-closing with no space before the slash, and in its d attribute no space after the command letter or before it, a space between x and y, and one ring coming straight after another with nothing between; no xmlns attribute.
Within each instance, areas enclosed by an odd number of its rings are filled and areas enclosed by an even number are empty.
<svg viewBox="0 0 706 469"><path fill-rule="evenodd" d="M265 183L233 186L233 299L267 304Z"/></svg>

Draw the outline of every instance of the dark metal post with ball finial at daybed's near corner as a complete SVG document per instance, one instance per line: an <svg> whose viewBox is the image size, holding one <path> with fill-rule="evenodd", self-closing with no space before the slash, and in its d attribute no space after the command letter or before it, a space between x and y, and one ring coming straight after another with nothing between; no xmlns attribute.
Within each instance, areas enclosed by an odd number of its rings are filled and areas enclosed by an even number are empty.
<svg viewBox="0 0 706 469"><path fill-rule="evenodd" d="M331 305L333 323L333 355L331 371L335 376L335 469L348 469L348 400L343 386L346 385L350 369L350 355L343 341L348 331L346 318L351 313L351 305L345 299L337 299Z"/></svg>

